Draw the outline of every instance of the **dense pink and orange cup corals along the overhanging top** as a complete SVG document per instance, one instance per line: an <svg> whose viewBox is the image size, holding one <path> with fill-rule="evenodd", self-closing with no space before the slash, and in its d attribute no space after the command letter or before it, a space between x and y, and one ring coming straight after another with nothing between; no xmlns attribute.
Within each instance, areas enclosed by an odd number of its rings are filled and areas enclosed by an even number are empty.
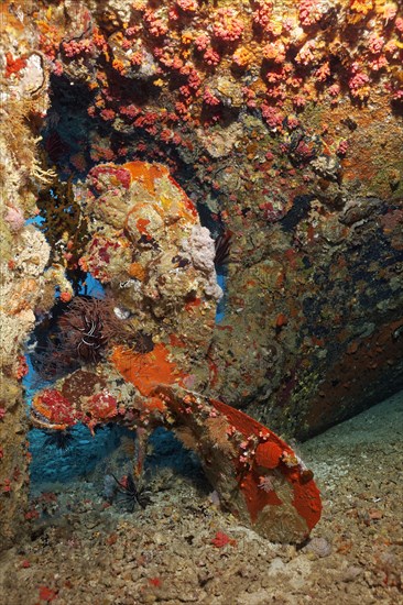
<svg viewBox="0 0 403 605"><path fill-rule="evenodd" d="M237 107L233 95L215 89L218 69L249 108L302 110L320 99L335 105L345 96L364 102L374 90L391 101L403 98L403 15L395 2L257 0L211 9L193 1L138 1L124 15L112 9L108 19L98 14L89 26L88 11L77 4L79 36L58 29L58 8L44 18L39 12L36 24L55 73L72 74L76 64L84 76L84 69L94 95L88 110L107 121L140 125L146 114L141 103L122 102L101 67L106 64L128 81L170 89L172 100L155 109L167 128L177 119L206 120L205 106L216 119L224 107ZM144 125L156 133L155 120Z"/></svg>

